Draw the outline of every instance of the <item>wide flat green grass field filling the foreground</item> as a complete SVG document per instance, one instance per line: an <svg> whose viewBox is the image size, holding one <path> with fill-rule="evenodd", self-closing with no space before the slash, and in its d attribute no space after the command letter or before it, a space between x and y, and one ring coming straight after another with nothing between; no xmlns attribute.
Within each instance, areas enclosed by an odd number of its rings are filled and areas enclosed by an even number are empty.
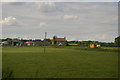
<svg viewBox="0 0 120 80"><path fill-rule="evenodd" d="M111 48L110 48L111 49ZM3 75L13 78L116 78L118 53L80 47L3 47Z"/></svg>

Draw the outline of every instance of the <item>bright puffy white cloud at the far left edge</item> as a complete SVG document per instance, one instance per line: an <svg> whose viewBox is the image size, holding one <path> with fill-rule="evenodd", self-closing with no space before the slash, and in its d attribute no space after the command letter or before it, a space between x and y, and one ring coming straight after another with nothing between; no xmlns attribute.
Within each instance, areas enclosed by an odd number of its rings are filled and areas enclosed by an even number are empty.
<svg viewBox="0 0 120 80"><path fill-rule="evenodd" d="M16 18L12 17L12 16L4 18L3 20L0 21L0 24L2 24L2 25L13 25L13 24L16 24Z"/></svg>

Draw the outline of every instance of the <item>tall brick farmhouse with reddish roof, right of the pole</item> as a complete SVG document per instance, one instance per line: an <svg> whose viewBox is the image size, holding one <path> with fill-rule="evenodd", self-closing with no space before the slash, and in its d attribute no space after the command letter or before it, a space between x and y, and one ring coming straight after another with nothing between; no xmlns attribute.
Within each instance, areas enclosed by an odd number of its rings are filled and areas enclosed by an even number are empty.
<svg viewBox="0 0 120 80"><path fill-rule="evenodd" d="M66 46L67 45L67 40L66 38L57 38L57 36L53 37L53 41L52 41L53 45L60 45L60 46Z"/></svg>

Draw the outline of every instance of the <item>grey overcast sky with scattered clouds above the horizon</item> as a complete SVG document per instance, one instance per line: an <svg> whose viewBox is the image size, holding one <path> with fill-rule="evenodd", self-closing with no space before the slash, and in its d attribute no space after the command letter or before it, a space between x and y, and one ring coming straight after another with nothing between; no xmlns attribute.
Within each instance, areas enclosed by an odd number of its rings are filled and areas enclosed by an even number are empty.
<svg viewBox="0 0 120 80"><path fill-rule="evenodd" d="M114 41L117 2L3 2L2 37Z"/></svg>

